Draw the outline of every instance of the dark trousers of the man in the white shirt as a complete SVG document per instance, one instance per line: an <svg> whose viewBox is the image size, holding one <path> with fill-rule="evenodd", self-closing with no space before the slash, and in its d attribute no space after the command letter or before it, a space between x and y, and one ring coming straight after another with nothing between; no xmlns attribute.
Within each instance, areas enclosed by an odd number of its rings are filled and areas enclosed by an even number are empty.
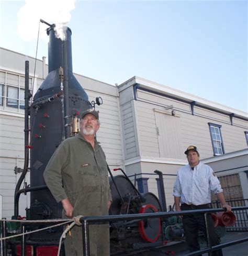
<svg viewBox="0 0 248 256"><path fill-rule="evenodd" d="M192 209L206 209L209 208L208 205L198 205L192 206L187 204L181 205L181 210L192 210ZM213 226L213 220L210 214L207 215L208 220L208 230L209 230L209 242L210 246L216 246L219 244L219 239L215 232L215 227ZM202 231L205 234L207 240L207 230L204 214L193 214L183 216L184 234L186 237L186 242L190 252L200 250L198 243L198 231ZM199 254L201 255L201 254ZM217 250L212 252L213 256L222 256L222 250Z"/></svg>

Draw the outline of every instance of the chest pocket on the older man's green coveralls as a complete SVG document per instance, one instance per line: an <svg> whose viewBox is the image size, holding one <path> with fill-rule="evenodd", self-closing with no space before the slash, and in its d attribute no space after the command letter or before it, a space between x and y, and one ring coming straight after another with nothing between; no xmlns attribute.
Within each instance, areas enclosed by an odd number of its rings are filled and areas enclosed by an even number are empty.
<svg viewBox="0 0 248 256"><path fill-rule="evenodd" d="M78 170L82 178L83 187L96 187L97 186L97 173L94 171L94 166L90 164L82 164Z"/></svg>

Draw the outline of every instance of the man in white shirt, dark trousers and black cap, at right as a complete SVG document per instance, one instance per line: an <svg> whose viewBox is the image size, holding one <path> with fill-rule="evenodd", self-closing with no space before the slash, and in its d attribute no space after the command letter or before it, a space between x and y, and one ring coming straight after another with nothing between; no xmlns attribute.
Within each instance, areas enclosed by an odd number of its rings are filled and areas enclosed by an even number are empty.
<svg viewBox="0 0 248 256"><path fill-rule="evenodd" d="M211 203L211 191L216 194L221 206L231 211L231 206L224 199L220 182L213 170L206 164L200 163L200 155L195 146L189 146L184 152L187 155L188 164L179 168L174 184L174 201L176 211L206 209ZM180 207L181 203L181 207ZM210 245L219 244L213 221L208 218L208 229L210 233ZM198 230L206 235L205 218L203 214L192 214L183 216L184 233L190 252L200 250L197 240ZM213 251L213 256L221 256L222 251Z"/></svg>

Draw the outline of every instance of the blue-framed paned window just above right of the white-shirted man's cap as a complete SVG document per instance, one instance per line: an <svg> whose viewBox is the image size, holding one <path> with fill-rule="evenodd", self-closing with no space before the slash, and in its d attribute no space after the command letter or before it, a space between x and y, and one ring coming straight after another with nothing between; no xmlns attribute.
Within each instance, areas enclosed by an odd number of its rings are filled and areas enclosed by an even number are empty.
<svg viewBox="0 0 248 256"><path fill-rule="evenodd" d="M208 123L213 147L213 155L224 154L223 140L221 136L221 125Z"/></svg>

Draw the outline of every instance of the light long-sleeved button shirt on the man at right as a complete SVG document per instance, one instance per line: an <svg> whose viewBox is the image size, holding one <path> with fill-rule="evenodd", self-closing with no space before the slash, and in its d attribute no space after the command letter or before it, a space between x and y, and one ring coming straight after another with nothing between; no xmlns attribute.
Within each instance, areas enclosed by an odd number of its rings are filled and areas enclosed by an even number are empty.
<svg viewBox="0 0 248 256"><path fill-rule="evenodd" d="M182 204L209 204L211 191L215 194L223 192L218 178L208 165L199 163L194 171L189 164L178 169L173 195L181 197Z"/></svg>

